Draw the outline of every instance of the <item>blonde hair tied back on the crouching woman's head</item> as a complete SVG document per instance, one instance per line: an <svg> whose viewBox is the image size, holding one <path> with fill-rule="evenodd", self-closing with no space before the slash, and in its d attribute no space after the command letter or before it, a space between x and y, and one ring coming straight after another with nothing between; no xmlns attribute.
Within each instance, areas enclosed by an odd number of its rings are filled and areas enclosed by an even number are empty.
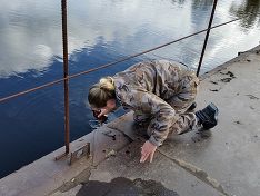
<svg viewBox="0 0 260 196"><path fill-rule="evenodd" d="M112 77L104 77L89 89L88 100L91 107L102 108L109 99L116 99L114 81Z"/></svg>

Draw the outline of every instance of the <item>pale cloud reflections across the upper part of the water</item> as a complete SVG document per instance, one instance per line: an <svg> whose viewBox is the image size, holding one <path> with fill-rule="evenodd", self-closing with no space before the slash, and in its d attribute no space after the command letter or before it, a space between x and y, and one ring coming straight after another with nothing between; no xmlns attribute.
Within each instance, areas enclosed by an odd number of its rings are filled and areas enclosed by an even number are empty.
<svg viewBox="0 0 260 196"><path fill-rule="evenodd" d="M0 0L0 45L2 46L0 77L13 75L21 77L21 74L28 71L36 71L37 76L44 72L52 65L53 59L59 59L62 55L60 3L50 0L37 3L33 0L12 0L11 2ZM220 0L214 22L223 22L236 16L243 18L240 22L242 27L251 28L259 21L259 0ZM212 0L147 2L76 0L69 2L69 51L73 53L71 60L77 59L78 51L91 49L100 40L106 43L103 47L113 48L114 52L121 55L129 55L204 29L211 4ZM216 40L214 45L229 39L229 32L239 32L238 40L246 37L237 24L221 29L227 33L218 35L218 38L211 36L211 40ZM257 35L259 28L251 29L251 32ZM199 41L196 41L197 39ZM162 49L157 51L157 55L181 61L188 59L186 63L196 67L202 39L202 35L199 38L191 38L189 39L191 41L187 40L184 43ZM118 45L123 50L118 50ZM242 41L240 45L243 45ZM246 47L253 45L256 42ZM209 52L210 48L212 47L208 47ZM90 51L86 50L86 52ZM183 58L183 53L188 58ZM227 56L221 58L224 60L231 58ZM154 58L150 55L148 57ZM218 57L220 60L217 61L206 59L206 69L222 62L221 58Z"/></svg>

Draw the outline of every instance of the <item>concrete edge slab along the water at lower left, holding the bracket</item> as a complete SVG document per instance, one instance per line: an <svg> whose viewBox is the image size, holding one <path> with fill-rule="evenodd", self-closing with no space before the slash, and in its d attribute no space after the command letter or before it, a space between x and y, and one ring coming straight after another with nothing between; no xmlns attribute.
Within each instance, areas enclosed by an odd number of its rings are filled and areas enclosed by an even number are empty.
<svg viewBox="0 0 260 196"><path fill-rule="evenodd" d="M108 133L113 137L109 137ZM127 138L122 133L103 126L71 143L71 150L78 149L86 143L91 144L91 151L92 155L94 155L93 161L92 159L82 158L79 161L76 161L72 166L68 165L68 158L54 161L57 156L64 153L64 149L60 148L2 178L0 180L0 195L47 195L51 190L61 187L66 182L73 180L74 176L80 175L87 168L98 165L114 151L124 147L129 144L129 138Z"/></svg>

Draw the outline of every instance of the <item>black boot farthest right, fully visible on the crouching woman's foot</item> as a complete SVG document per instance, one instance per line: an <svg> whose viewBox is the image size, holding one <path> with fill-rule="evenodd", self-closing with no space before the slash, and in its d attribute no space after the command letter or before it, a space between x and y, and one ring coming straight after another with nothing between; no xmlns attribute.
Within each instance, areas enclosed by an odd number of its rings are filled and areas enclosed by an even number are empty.
<svg viewBox="0 0 260 196"><path fill-rule="evenodd" d="M210 102L204 109L196 111L198 124L201 124L204 129L210 129L218 124L218 114L217 106Z"/></svg>

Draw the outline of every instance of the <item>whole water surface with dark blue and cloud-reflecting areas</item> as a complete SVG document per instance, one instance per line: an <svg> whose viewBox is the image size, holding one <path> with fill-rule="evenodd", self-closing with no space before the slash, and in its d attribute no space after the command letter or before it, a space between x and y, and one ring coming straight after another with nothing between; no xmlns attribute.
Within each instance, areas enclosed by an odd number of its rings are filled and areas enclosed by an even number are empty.
<svg viewBox="0 0 260 196"><path fill-rule="evenodd" d="M76 74L207 28L212 0L71 0L69 72ZM202 71L260 40L260 0L219 0ZM147 59L197 68L204 35L70 81L71 140L90 131L88 87ZM62 77L60 1L0 0L0 97ZM62 84L0 104L0 177L63 145Z"/></svg>

